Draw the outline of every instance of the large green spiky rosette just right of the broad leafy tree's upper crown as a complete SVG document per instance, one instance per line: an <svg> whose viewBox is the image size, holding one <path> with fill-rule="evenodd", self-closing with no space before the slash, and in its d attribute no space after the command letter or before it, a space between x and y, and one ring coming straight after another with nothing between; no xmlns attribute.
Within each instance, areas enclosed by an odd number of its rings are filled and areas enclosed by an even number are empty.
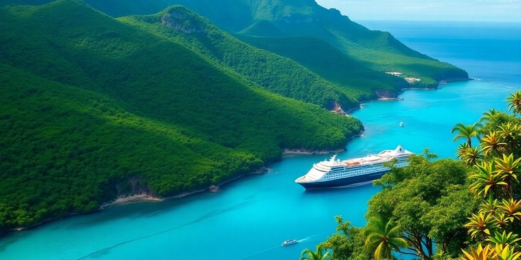
<svg viewBox="0 0 521 260"><path fill-rule="evenodd" d="M474 192L476 196L480 196L481 193L487 196L487 193L491 190L497 197L502 186L506 186L507 183L503 181L500 174L495 172L495 163L483 162L474 165L474 167L477 171L468 177L474 179L474 183L470 185L470 191Z"/></svg>

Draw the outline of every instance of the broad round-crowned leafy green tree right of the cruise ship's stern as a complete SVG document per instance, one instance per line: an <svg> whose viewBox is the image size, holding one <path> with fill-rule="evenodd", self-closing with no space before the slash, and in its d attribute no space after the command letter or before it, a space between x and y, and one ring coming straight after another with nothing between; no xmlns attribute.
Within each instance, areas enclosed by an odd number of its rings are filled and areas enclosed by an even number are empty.
<svg viewBox="0 0 521 260"><path fill-rule="evenodd" d="M419 258L430 258L435 243L438 251L459 251L466 237L462 227L478 206L468 191L468 171L460 161L414 155L409 166L393 169L377 182L383 190L369 201L367 216L393 219Z"/></svg>

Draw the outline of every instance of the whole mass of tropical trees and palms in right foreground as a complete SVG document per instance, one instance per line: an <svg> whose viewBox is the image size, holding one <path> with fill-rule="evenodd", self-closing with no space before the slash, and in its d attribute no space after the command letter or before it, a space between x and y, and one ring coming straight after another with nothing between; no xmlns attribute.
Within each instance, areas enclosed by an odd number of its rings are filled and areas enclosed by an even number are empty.
<svg viewBox="0 0 521 260"><path fill-rule="evenodd" d="M374 182L365 227L335 217L336 233L301 259L516 260L521 256L521 91L513 113L490 110L456 124L458 160L428 150ZM475 141L478 144L474 145Z"/></svg>

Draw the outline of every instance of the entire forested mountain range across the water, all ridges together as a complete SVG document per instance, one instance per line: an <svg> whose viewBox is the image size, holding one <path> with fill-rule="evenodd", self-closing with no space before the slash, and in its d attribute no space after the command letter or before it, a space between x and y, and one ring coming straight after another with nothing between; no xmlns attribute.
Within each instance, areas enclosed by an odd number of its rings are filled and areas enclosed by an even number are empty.
<svg viewBox="0 0 521 260"><path fill-rule="evenodd" d="M313 0L0 6L0 233L342 148L362 124L324 108L409 86L383 71L467 78Z"/></svg>

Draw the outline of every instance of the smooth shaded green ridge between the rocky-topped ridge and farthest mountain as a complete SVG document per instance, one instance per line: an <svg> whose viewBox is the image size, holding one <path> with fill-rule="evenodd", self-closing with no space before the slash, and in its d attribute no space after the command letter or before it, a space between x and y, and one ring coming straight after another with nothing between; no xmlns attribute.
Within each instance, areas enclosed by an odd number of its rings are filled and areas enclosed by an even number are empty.
<svg viewBox="0 0 521 260"><path fill-rule="evenodd" d="M402 88L410 87L401 77L370 69L365 63L316 37L238 37L244 42L299 62L358 101L395 97Z"/></svg>

